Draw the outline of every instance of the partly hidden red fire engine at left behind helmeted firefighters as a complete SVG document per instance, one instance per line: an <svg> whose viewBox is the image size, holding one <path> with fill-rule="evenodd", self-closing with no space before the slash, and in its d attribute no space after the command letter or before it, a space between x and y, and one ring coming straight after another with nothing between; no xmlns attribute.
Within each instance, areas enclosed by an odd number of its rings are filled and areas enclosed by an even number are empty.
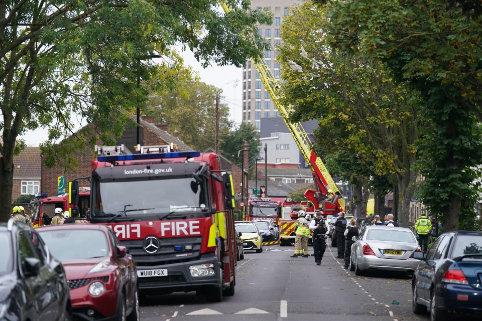
<svg viewBox="0 0 482 321"><path fill-rule="evenodd" d="M87 209L89 207L90 191L89 189L81 188L79 193L78 209L76 213L81 217L85 217ZM61 194L58 196L48 196L48 194L35 194L35 199L29 204L30 216L32 217L32 226L43 226L42 216L47 214L49 220L54 216L54 210L59 207L64 211L71 211L73 207L69 204L69 194ZM72 216L72 213L71 213ZM76 217L77 218L77 217Z"/></svg>

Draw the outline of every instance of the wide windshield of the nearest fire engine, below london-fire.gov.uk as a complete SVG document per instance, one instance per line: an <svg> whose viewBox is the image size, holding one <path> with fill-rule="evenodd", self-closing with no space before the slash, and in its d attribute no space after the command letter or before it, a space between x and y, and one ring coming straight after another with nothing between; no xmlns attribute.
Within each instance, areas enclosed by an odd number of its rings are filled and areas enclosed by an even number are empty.
<svg viewBox="0 0 482 321"><path fill-rule="evenodd" d="M91 193L92 216L128 217L143 215L207 213L207 183L191 188L192 177L170 177L149 180L94 180ZM175 213L175 214L174 214Z"/></svg>

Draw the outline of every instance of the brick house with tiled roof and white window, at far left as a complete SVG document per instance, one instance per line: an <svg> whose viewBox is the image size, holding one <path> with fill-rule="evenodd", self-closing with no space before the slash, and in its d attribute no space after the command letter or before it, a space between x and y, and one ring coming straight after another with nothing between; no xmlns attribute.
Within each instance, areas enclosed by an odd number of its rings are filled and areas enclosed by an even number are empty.
<svg viewBox="0 0 482 321"><path fill-rule="evenodd" d="M39 147L26 147L14 156L14 181L12 186L12 202L20 195L40 192L42 181L42 158Z"/></svg>

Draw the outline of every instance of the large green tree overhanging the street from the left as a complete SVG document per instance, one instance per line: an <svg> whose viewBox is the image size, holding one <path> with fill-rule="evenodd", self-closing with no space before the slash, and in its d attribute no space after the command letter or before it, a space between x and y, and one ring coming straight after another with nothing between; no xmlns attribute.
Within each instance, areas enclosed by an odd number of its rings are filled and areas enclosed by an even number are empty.
<svg viewBox="0 0 482 321"><path fill-rule="evenodd" d="M215 0L1 1L0 220L8 219L13 156L25 146L19 139L25 132L48 128L41 149L53 165L71 150L53 146L77 131L72 114L95 126L88 137L75 134L78 143L69 147L109 143L121 134L128 111L147 98L147 84L175 83L169 75L182 60L174 45L189 48L204 66L240 67L258 57L268 44L256 25L270 24L271 16L251 11L250 1L224 3L229 14ZM151 60L157 55L161 67Z"/></svg>

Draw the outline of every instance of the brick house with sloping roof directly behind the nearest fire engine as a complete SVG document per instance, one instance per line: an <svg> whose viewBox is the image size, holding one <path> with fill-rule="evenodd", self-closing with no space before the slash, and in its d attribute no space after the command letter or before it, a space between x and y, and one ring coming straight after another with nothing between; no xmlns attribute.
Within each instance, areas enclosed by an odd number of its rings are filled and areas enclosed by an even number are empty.
<svg viewBox="0 0 482 321"><path fill-rule="evenodd" d="M153 117L143 117L140 121L139 143L141 145L163 145L168 143L175 143L178 145L179 151L192 150L178 137L175 137L167 132L167 124L155 124ZM136 115L132 115L132 123L126 126L123 135L116 138L116 145L124 144L131 151L137 142L137 124ZM101 144L101 143L99 143ZM78 167L75 171L65 170L60 166L48 168L42 162L42 183L41 192L49 195L58 194L58 177L65 176L65 181L70 182L75 178L89 177L91 174L90 164L92 159L96 157L93 148L86 146L82 151L75 154L78 161ZM87 180L80 180L81 187L88 187Z"/></svg>

